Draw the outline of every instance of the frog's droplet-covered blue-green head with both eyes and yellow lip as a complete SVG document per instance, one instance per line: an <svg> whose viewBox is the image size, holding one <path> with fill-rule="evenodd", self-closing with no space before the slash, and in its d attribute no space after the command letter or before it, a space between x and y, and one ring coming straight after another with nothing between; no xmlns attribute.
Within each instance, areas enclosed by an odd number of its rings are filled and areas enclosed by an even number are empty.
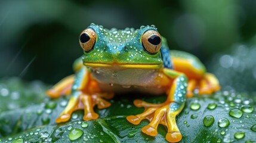
<svg viewBox="0 0 256 143"><path fill-rule="evenodd" d="M134 30L104 29L91 24L79 38L87 67L159 69L162 67L162 38L155 26Z"/></svg>

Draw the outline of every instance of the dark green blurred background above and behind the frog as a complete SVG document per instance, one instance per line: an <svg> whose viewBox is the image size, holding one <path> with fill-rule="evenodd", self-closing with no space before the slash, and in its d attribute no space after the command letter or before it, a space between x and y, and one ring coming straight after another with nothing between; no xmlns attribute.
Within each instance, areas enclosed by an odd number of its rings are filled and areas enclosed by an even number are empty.
<svg viewBox="0 0 256 143"><path fill-rule="evenodd" d="M155 24L169 48L195 54L214 70L214 56L256 43L256 1L0 1L0 78L53 84L72 74L82 55L79 35L90 23L108 29Z"/></svg>

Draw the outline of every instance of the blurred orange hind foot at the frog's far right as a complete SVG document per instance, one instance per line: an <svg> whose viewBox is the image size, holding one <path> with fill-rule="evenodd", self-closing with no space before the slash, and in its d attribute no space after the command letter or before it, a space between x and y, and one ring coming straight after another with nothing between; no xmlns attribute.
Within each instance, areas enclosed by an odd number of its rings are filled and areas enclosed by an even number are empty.
<svg viewBox="0 0 256 143"><path fill-rule="evenodd" d="M212 94L220 90L218 79L211 73L205 73L203 78L199 81L189 80L187 86L187 97L193 97L193 91L198 89L198 94Z"/></svg>

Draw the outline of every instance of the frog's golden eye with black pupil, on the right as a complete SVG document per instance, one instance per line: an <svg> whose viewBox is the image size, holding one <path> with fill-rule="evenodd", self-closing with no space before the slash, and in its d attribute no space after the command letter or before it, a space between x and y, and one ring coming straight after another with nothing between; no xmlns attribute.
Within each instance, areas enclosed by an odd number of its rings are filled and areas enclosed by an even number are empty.
<svg viewBox="0 0 256 143"><path fill-rule="evenodd" d="M156 54L162 46L161 35L156 30L147 30L141 37L142 45L147 52Z"/></svg>

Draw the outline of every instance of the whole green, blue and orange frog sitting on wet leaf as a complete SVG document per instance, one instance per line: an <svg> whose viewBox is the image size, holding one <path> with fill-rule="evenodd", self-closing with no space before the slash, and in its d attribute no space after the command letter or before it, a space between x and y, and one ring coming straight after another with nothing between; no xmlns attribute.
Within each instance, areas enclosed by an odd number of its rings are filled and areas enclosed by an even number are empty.
<svg viewBox="0 0 256 143"><path fill-rule="evenodd" d="M55 120L57 123L67 122L76 110L84 110L83 120L98 119L94 106L110 107L109 100L115 94L164 94L166 101L159 104L134 100L134 105L143 107L144 111L127 116L127 121L139 125L142 120L149 120L141 129L149 136L158 135L158 125L164 125L166 141L178 142L182 135L175 118L183 110L186 99L220 90L217 77L206 72L199 58L169 49L154 25L118 30L92 23L82 31L79 44L84 54L73 64L75 74L47 91L51 98L70 95Z"/></svg>

